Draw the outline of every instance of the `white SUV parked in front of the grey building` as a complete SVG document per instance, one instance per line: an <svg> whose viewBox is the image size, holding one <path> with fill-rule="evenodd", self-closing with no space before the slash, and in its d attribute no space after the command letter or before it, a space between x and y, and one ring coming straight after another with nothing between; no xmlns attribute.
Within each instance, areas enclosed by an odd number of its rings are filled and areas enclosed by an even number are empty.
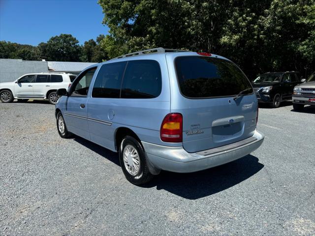
<svg viewBox="0 0 315 236"><path fill-rule="evenodd" d="M27 101L28 99L48 99L56 104L59 99L57 89L68 89L76 75L64 72L42 72L26 74L14 82L0 83L0 101Z"/></svg>

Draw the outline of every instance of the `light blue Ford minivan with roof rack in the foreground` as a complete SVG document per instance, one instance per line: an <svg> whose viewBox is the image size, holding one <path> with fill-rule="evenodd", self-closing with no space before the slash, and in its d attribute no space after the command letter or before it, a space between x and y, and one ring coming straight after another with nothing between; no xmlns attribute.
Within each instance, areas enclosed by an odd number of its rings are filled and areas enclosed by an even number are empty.
<svg viewBox="0 0 315 236"><path fill-rule="evenodd" d="M131 183L160 170L189 173L258 148L258 103L233 62L208 53L151 49L93 65L56 103L62 138L71 133L119 152Z"/></svg>

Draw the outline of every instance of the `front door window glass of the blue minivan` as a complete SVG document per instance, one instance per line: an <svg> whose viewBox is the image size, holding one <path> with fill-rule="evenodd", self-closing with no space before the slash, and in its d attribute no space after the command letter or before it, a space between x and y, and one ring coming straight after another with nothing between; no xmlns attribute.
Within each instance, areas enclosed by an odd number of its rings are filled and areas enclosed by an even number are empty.
<svg viewBox="0 0 315 236"><path fill-rule="evenodd" d="M91 80L95 73L96 67L84 71L71 85L70 96L85 97L88 95Z"/></svg>

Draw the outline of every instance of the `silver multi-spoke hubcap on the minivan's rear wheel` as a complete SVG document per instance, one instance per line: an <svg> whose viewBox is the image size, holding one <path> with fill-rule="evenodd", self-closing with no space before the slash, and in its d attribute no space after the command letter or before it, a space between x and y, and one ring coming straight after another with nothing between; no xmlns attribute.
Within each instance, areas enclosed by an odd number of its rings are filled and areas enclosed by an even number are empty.
<svg viewBox="0 0 315 236"><path fill-rule="evenodd" d="M140 170L140 158L137 150L131 146L126 145L124 148L124 164L127 172L131 176L136 176Z"/></svg>

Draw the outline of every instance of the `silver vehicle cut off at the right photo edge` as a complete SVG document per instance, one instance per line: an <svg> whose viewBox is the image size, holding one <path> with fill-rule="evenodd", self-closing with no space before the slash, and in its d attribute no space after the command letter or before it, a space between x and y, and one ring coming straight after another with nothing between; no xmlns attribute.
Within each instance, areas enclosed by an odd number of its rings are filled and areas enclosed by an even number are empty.
<svg viewBox="0 0 315 236"><path fill-rule="evenodd" d="M295 111L303 110L304 105L315 106L315 72L303 82L293 89L292 103Z"/></svg>

